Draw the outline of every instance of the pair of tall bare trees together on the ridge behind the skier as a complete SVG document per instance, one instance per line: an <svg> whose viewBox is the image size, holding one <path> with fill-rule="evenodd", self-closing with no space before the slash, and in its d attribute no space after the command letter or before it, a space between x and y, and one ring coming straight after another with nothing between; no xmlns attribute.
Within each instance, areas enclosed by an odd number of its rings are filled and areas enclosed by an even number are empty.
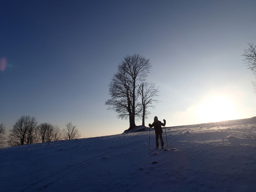
<svg viewBox="0 0 256 192"><path fill-rule="evenodd" d="M150 114L148 108L155 108L153 103L158 102L155 99L158 88L155 83L146 82L151 68L150 59L139 54L126 55L109 84L111 99L105 104L109 106L108 110L118 113L118 118L129 118L129 130L136 126L136 118L142 119L142 125L145 125L145 119Z"/></svg>

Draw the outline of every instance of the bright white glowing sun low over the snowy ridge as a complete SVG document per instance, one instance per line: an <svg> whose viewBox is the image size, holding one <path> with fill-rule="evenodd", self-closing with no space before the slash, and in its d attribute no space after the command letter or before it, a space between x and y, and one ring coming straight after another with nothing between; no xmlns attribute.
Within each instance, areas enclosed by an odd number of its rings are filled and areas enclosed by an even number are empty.
<svg viewBox="0 0 256 192"><path fill-rule="evenodd" d="M195 111L201 122L217 122L237 118L235 106L230 99L212 96L206 99Z"/></svg>

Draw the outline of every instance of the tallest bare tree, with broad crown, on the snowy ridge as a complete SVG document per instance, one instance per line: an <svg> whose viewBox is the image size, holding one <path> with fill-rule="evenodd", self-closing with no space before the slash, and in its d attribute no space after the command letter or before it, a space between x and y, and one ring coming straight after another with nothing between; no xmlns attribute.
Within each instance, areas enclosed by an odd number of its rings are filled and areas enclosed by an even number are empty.
<svg viewBox="0 0 256 192"><path fill-rule="evenodd" d="M108 110L119 114L118 118L127 119L129 117L129 130L136 126L135 118L141 113L140 103L137 101L137 81L144 81L151 67L150 59L139 54L126 55L109 84L111 99L107 100L105 104L109 105Z"/></svg>

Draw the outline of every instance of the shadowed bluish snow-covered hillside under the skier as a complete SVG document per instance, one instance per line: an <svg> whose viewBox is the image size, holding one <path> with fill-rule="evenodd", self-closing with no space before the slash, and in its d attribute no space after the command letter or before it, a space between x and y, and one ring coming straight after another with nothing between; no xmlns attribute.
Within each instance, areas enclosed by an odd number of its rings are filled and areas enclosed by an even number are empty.
<svg viewBox="0 0 256 192"><path fill-rule="evenodd" d="M256 118L166 127L159 154L148 154L148 128L2 148L0 191L256 191L255 127Z"/></svg>

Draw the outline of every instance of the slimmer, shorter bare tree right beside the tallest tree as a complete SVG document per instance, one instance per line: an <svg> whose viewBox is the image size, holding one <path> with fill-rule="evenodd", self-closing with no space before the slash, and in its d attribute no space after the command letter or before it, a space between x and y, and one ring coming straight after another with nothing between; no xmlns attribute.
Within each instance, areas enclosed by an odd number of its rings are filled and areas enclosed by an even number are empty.
<svg viewBox="0 0 256 192"><path fill-rule="evenodd" d="M142 125L145 125L145 119L147 119L147 115L151 114L150 111L147 110L147 108L155 109L156 105L153 105L153 102L155 103L159 102L158 100L154 99L154 97L159 96L158 93L159 93L159 90L158 88L156 88L155 83L141 82L138 89L138 94L140 95L140 98L141 98Z"/></svg>

